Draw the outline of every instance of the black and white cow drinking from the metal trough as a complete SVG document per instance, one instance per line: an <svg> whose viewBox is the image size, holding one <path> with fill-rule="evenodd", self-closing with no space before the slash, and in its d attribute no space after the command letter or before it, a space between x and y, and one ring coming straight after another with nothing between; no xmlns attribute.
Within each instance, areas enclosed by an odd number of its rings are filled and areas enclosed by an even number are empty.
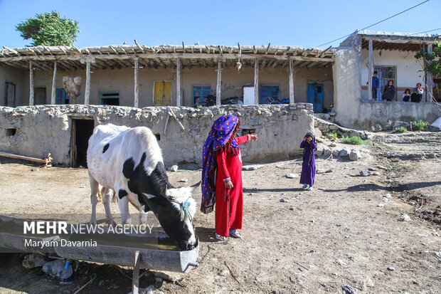
<svg viewBox="0 0 441 294"><path fill-rule="evenodd" d="M87 167L92 202L91 224L96 224L99 184L104 187L102 203L107 222L115 224L110 213L110 189L117 194L122 225L132 224L129 202L140 212L153 211L162 228L181 249L191 249L196 243L193 216L196 203L191 187L171 186L164 168L161 149L147 127L99 125L93 130L87 148Z"/></svg>

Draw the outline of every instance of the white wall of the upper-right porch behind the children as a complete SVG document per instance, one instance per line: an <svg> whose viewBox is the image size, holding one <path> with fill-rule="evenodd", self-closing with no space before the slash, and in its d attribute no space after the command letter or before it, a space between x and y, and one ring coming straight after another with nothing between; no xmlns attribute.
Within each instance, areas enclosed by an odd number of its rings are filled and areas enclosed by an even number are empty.
<svg viewBox="0 0 441 294"><path fill-rule="evenodd" d="M368 98L368 90L366 82L368 79L368 50L361 52L361 98ZM421 63L415 58L415 52L412 51L373 51L373 65L394 65L396 66L395 87L397 87L398 101L406 88L412 90L417 83L424 83L424 70ZM379 90L379 89L378 89Z"/></svg>

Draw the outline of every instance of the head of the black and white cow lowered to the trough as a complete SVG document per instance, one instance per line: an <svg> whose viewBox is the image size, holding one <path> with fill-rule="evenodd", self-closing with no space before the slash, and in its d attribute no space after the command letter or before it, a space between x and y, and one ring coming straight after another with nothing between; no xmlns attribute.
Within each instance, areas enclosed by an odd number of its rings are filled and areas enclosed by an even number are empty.
<svg viewBox="0 0 441 294"><path fill-rule="evenodd" d="M144 194L154 202L154 212L162 229L178 243L181 250L191 250L196 245L193 217L196 213L196 202L191 192L201 182L191 187L164 189L161 196Z"/></svg>

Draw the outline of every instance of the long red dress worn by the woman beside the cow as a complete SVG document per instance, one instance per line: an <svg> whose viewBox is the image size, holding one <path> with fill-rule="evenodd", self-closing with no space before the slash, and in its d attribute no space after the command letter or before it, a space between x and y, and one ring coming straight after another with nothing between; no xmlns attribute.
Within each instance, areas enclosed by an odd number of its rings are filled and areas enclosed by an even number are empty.
<svg viewBox="0 0 441 294"><path fill-rule="evenodd" d="M234 140L238 145L241 145L250 140L250 135L235 137ZM218 163L216 175L216 233L219 236L226 237L229 235L230 229L242 229L243 194L240 148L238 147L237 155L221 152L218 154L216 162ZM228 182L229 179L234 187L228 190L230 194L228 204L225 182ZM230 211L229 215L228 210Z"/></svg>

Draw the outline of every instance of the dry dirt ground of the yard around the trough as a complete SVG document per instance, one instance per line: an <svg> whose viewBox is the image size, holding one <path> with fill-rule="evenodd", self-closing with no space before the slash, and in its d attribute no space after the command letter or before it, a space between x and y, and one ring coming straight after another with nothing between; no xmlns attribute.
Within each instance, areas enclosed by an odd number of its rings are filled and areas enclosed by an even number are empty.
<svg viewBox="0 0 441 294"><path fill-rule="evenodd" d="M441 293L441 133L377 133L371 142L357 147L363 157L356 162L317 158L317 169L331 172L317 174L313 191L285 177L300 174L301 159L243 171L243 238L216 241L214 214L198 213L200 266L168 273L177 283L155 282L149 271L140 287L154 285L164 293L341 293L349 285L356 293ZM89 213L86 169L0 162L0 214ZM380 175L354 176L378 164L387 168L378 169ZM176 186L179 179L193 184L200 177L198 170L169 172ZM201 191L194 198L200 203ZM403 221L404 214L410 221ZM81 262L60 282L41 268L23 268L18 254L0 258L0 293L72 294L94 277L80 293L131 290L129 268Z"/></svg>

